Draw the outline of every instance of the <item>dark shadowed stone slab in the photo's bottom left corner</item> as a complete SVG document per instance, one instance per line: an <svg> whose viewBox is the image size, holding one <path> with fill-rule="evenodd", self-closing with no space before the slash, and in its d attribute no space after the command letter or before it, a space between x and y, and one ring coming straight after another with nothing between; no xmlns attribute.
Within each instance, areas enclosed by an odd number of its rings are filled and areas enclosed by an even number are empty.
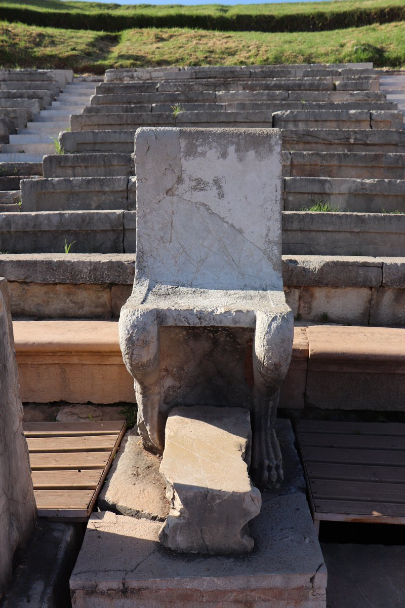
<svg viewBox="0 0 405 608"><path fill-rule="evenodd" d="M70 608L69 576L82 540L81 523L39 518L2 608Z"/></svg>

